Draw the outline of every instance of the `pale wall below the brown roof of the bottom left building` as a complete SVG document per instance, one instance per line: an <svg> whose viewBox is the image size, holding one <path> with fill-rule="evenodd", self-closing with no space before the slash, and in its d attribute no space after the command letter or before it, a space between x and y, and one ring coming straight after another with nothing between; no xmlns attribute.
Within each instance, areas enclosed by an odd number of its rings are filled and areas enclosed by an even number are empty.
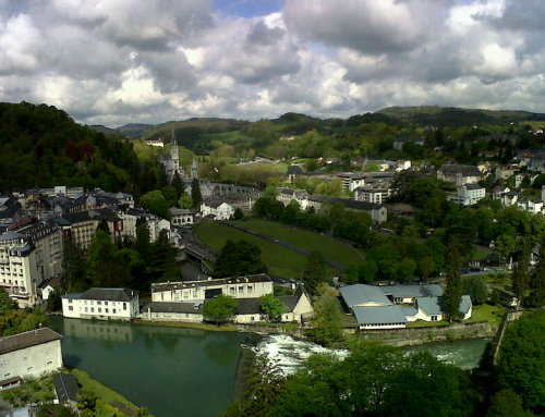
<svg viewBox="0 0 545 417"><path fill-rule="evenodd" d="M62 367L60 340L0 355L0 379L39 377L60 367Z"/></svg>

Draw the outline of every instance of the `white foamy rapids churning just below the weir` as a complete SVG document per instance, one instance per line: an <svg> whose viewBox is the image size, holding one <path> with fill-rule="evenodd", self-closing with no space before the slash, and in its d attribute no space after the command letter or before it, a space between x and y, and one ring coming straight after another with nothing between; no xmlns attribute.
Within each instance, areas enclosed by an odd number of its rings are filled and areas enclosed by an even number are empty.
<svg viewBox="0 0 545 417"><path fill-rule="evenodd" d="M294 373L311 355L331 354L343 359L349 354L347 349L323 347L312 342L298 341L287 334L264 338L257 344L255 352L268 363L276 363L284 375Z"/></svg>

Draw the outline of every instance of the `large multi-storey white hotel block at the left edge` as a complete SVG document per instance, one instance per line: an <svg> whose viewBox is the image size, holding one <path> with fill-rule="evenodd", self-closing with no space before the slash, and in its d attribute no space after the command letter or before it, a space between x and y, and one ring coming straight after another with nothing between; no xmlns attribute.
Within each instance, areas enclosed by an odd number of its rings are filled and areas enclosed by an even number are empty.
<svg viewBox="0 0 545 417"><path fill-rule="evenodd" d="M0 285L21 307L35 305L38 285L62 270L62 233L55 222L0 235Z"/></svg>

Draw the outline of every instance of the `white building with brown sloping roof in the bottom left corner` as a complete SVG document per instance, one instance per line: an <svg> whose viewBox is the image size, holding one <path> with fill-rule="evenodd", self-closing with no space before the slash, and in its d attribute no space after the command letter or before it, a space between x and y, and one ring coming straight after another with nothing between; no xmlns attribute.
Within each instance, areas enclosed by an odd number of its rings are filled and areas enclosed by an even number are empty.
<svg viewBox="0 0 545 417"><path fill-rule="evenodd" d="M62 367L61 335L43 328L0 339L0 389Z"/></svg>

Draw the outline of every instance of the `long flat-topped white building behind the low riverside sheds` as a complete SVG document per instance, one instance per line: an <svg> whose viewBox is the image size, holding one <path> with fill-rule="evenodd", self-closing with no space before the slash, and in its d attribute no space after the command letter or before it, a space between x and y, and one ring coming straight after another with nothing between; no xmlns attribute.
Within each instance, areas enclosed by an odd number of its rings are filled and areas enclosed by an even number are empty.
<svg viewBox="0 0 545 417"><path fill-rule="evenodd" d="M265 273L208 281L152 283L152 302L198 302L219 294L234 298L259 298L272 294L272 281Z"/></svg>

